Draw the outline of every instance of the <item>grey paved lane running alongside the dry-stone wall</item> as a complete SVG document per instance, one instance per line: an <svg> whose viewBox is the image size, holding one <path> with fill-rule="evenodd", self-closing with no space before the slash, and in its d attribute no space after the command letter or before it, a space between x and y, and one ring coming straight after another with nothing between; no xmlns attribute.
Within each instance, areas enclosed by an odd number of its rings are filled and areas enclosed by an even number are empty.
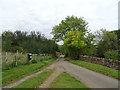
<svg viewBox="0 0 120 90"><path fill-rule="evenodd" d="M53 67L64 69L65 72L68 72L70 75L75 77L77 80L80 80L89 88L118 88L117 79L74 65L68 61L64 61L63 57L58 58L58 61L53 64ZM47 84L47 82L44 82L44 84Z"/></svg>

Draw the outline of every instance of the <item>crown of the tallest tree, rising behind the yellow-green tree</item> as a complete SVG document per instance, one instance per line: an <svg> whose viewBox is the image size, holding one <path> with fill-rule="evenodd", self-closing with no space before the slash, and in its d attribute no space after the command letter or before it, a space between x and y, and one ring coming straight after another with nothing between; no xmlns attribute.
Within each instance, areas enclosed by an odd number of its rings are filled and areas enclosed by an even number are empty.
<svg viewBox="0 0 120 90"><path fill-rule="evenodd" d="M88 23L83 18L77 18L75 16L68 16L65 20L62 20L59 25L56 25L52 29L53 39L55 41L64 41L66 34L71 30L78 30L86 32Z"/></svg>

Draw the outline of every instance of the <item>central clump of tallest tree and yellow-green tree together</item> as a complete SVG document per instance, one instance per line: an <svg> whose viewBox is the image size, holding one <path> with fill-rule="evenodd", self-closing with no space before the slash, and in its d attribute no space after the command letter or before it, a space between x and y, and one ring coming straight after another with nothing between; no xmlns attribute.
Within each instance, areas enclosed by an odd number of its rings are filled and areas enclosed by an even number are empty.
<svg viewBox="0 0 120 90"><path fill-rule="evenodd" d="M64 42L63 53L73 59L78 59L80 54L91 55L94 35L87 30L87 27L88 23L83 18L68 16L59 25L53 27L53 39L62 40Z"/></svg>

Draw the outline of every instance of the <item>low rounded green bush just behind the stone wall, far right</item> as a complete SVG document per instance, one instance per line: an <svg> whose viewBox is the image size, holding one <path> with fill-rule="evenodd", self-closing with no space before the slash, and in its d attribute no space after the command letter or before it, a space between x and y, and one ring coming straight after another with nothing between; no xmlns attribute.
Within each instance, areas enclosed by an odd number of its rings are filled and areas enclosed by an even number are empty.
<svg viewBox="0 0 120 90"><path fill-rule="evenodd" d="M117 50L108 50L104 53L105 58L118 60L119 54Z"/></svg>

